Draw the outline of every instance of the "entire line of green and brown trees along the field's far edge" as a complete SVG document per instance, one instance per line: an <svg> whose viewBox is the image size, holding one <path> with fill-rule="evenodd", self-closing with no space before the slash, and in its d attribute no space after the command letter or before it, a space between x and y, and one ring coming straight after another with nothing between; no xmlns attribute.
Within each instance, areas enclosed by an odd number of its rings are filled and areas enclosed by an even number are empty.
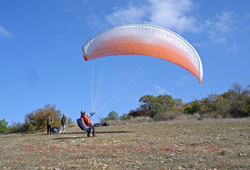
<svg viewBox="0 0 250 170"><path fill-rule="evenodd" d="M136 117L151 117L154 120L173 119L177 114L199 114L210 118L243 118L250 116L250 85L242 87L233 83L231 88L222 94L209 94L200 100L183 103L181 99L171 95L144 95L139 99L140 106L119 117L111 111L103 120L128 120ZM4 119L0 120L0 133L45 131L48 115L53 125L60 127L61 111L55 105L45 105L26 114L24 123L13 123L8 126ZM68 123L72 123L69 118Z"/></svg>

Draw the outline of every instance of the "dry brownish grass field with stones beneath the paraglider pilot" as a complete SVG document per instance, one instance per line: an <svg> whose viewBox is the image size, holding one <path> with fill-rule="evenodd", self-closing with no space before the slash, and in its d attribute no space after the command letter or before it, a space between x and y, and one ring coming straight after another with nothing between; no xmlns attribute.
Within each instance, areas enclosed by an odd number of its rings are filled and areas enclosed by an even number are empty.
<svg viewBox="0 0 250 170"><path fill-rule="evenodd" d="M0 136L0 169L250 169L250 119L179 120Z"/></svg>

